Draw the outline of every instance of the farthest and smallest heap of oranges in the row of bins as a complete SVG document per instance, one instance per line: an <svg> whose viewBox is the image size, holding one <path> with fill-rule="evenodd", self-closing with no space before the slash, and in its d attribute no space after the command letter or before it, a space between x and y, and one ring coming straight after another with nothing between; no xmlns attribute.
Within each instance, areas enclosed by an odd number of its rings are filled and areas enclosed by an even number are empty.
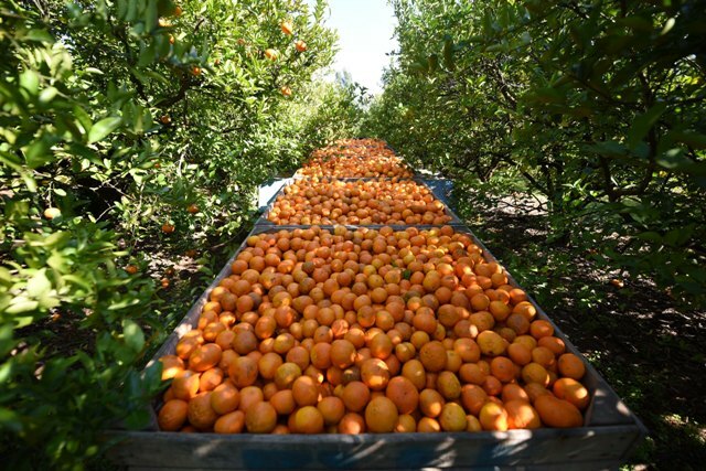
<svg viewBox="0 0 706 471"><path fill-rule="evenodd" d="M385 142L346 139L318 149L299 171L306 176L410 178L411 171Z"/></svg>

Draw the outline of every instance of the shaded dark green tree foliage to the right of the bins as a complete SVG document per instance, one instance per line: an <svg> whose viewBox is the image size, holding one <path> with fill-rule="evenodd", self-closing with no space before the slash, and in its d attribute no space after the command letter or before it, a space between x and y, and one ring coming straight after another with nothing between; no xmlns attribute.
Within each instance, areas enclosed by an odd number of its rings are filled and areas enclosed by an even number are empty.
<svg viewBox="0 0 706 471"><path fill-rule="evenodd" d="M393 4L365 132L477 193L528 190L553 238L706 302L704 2Z"/></svg>

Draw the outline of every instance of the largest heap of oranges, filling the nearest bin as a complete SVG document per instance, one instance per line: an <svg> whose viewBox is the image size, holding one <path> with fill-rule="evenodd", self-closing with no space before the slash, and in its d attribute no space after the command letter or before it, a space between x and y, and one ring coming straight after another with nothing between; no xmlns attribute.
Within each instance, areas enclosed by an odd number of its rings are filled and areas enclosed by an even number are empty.
<svg viewBox="0 0 706 471"><path fill-rule="evenodd" d="M161 362L171 431L580 427L590 399L582 361L449 226L253 235Z"/></svg>

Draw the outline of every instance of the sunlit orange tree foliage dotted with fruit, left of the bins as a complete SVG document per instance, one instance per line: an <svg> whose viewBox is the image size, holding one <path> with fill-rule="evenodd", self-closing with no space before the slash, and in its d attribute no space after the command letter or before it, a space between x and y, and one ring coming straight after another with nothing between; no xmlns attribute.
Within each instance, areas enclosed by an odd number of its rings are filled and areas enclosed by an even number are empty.
<svg viewBox="0 0 706 471"><path fill-rule="evenodd" d="M3 465L78 467L97 430L145 425L164 328L145 251L227 239L259 182L355 132L350 86L313 83L335 34L311 4L2 2Z"/></svg>

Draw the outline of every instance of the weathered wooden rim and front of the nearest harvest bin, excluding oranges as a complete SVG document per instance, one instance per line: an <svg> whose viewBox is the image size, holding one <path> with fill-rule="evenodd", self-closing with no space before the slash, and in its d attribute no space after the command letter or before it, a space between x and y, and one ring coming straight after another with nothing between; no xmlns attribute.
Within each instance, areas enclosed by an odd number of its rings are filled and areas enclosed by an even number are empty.
<svg viewBox="0 0 706 471"><path fill-rule="evenodd" d="M256 226L252 234L271 233L282 228L285 227ZM495 260L469 228L456 227L456 231L469 234L475 244L483 248L486 259ZM174 353L179 338L196 325L208 293L229 275L235 255L194 303L152 361ZM517 286L510 275L509 280L511 285ZM538 318L550 322L532 298L530 301L537 309ZM566 342L567 351L582 358L564 333L556 325L554 328L555 335ZM357 436L225 436L161 432L157 430L153 420L154 425L149 430L108 432L109 440L118 441L110 450L109 458L116 464L130 470L614 469L630 457L646 430L598 372L588 362L584 362L586 375L581 381L590 392L591 403L585 413L584 427L580 428Z"/></svg>

